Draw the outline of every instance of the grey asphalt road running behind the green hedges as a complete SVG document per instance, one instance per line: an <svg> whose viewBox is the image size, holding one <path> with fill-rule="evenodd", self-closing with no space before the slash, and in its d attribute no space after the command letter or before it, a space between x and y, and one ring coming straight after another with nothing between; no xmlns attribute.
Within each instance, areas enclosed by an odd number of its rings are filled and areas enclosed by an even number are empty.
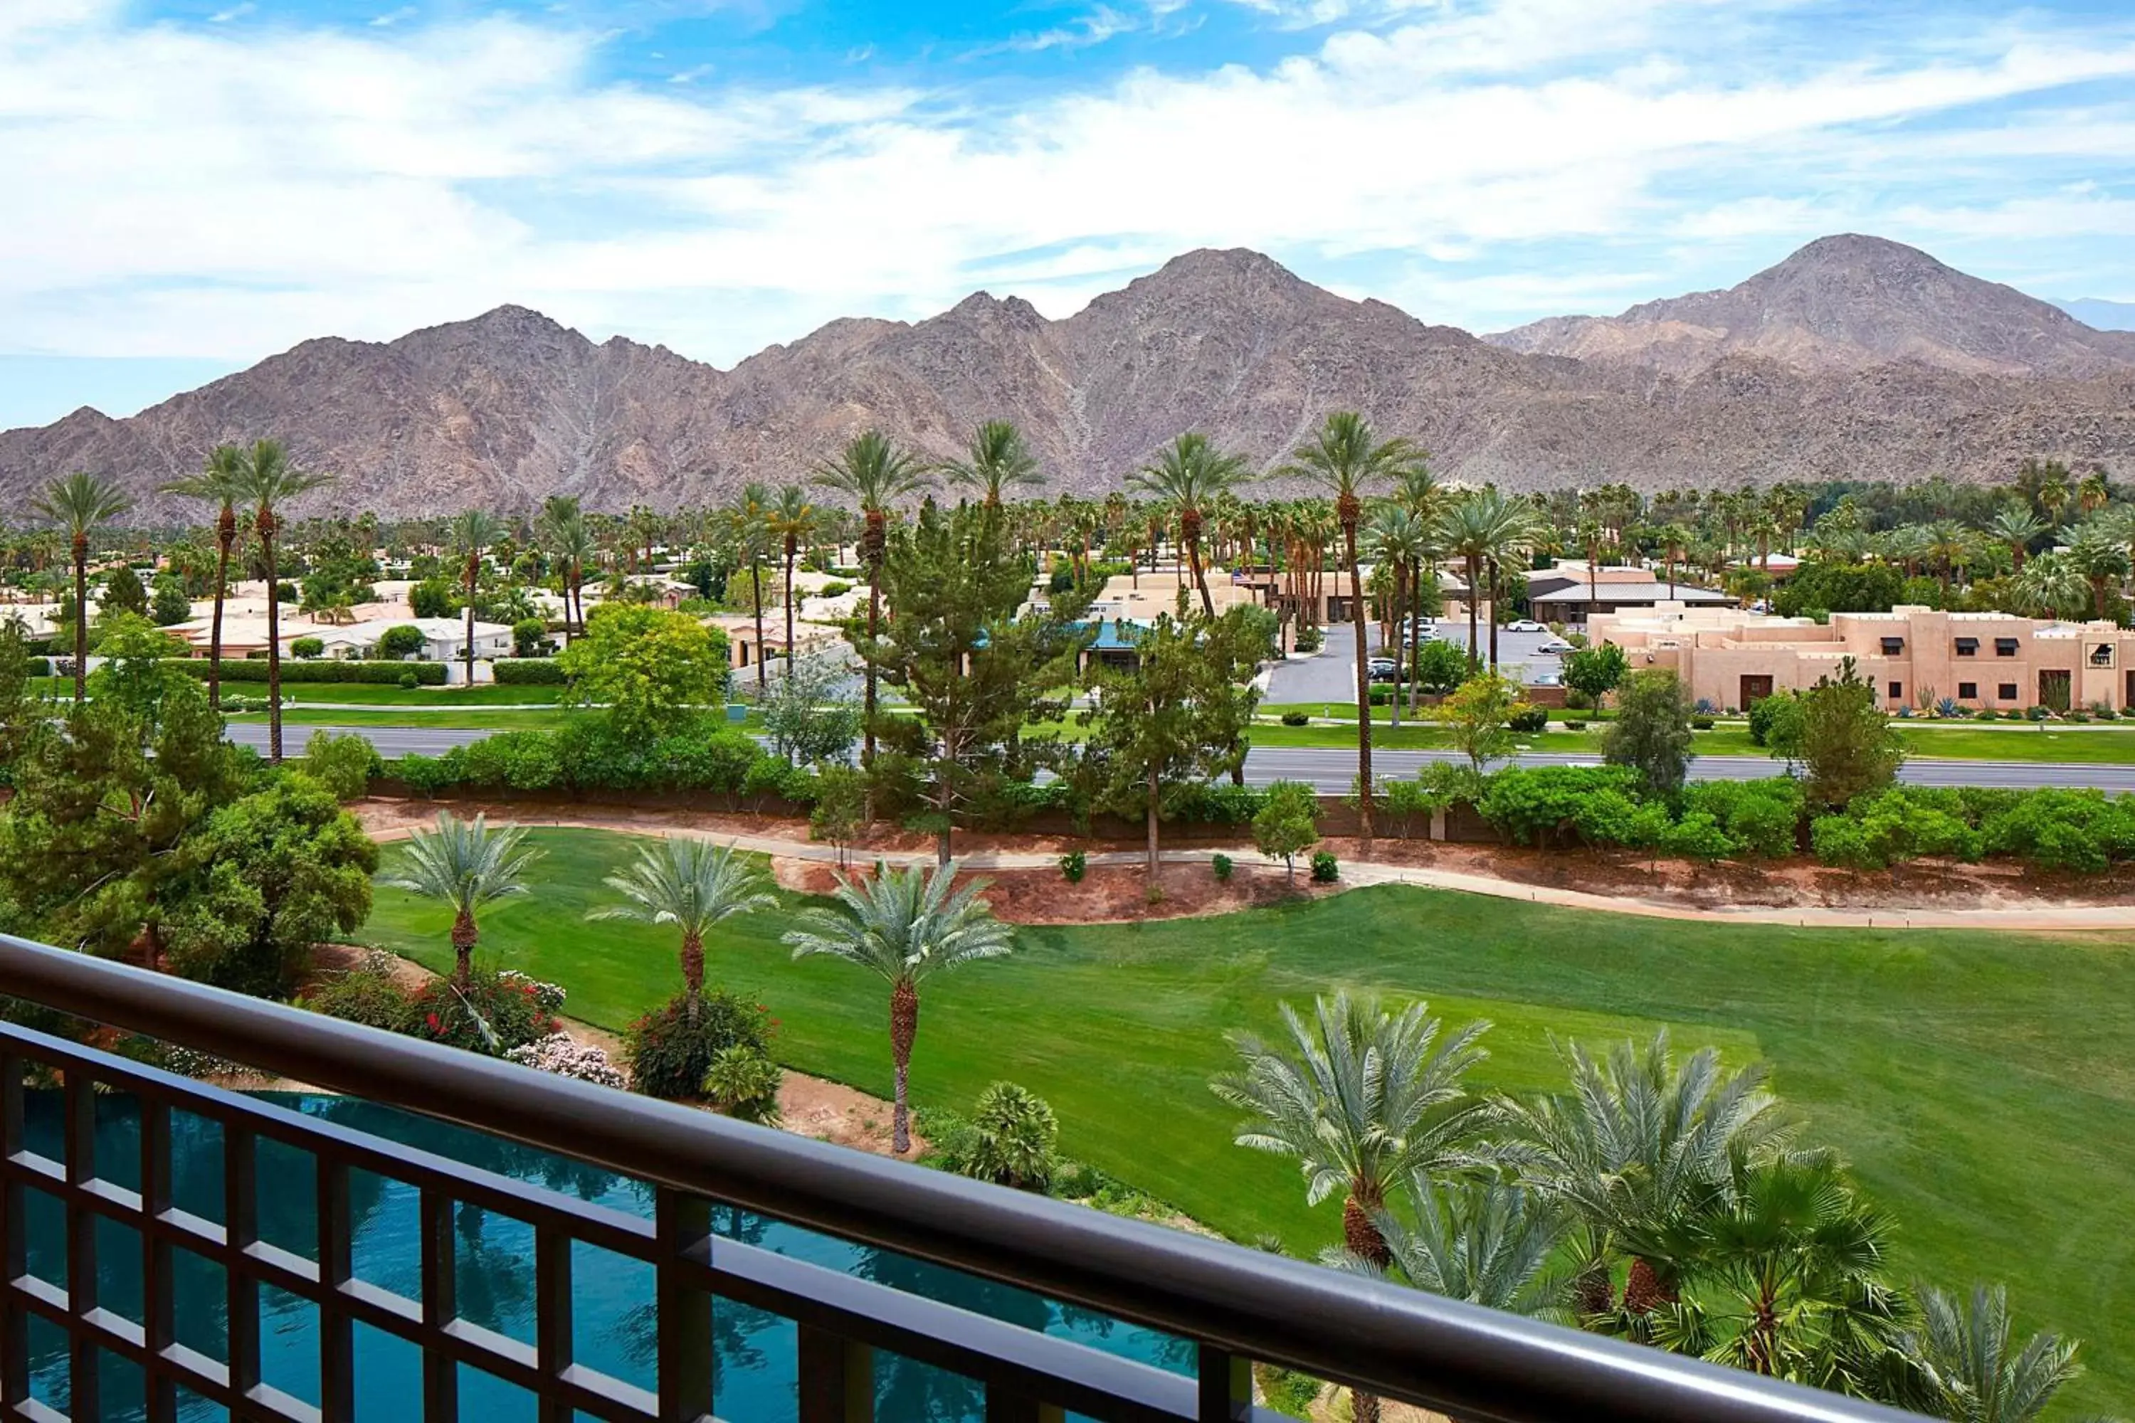
<svg viewBox="0 0 2135 1423"><path fill-rule="evenodd" d="M284 728L282 742L301 751L305 738L320 728ZM453 747L489 736L485 730L438 730L412 725L327 728L369 736L378 755L442 755ZM233 723L231 740L267 749L267 728L256 721ZM1424 762L1456 762L1458 751L1379 751L1371 753L1377 777L1413 777ZM1595 766L1601 757L1576 753L1539 753L1514 757L1518 766ZM1699 755L1691 762L1693 781L1755 781L1778 774L1778 764L1761 755ZM1326 794L1343 794L1356 781L1356 751L1322 747L1258 747L1245 757L1245 779L1251 785L1268 781L1309 781ZM1911 785L2007 785L2007 787L2097 787L2103 792L2135 792L2135 766L2071 764L2071 762L1956 762L1913 760L1898 772Z"/></svg>

